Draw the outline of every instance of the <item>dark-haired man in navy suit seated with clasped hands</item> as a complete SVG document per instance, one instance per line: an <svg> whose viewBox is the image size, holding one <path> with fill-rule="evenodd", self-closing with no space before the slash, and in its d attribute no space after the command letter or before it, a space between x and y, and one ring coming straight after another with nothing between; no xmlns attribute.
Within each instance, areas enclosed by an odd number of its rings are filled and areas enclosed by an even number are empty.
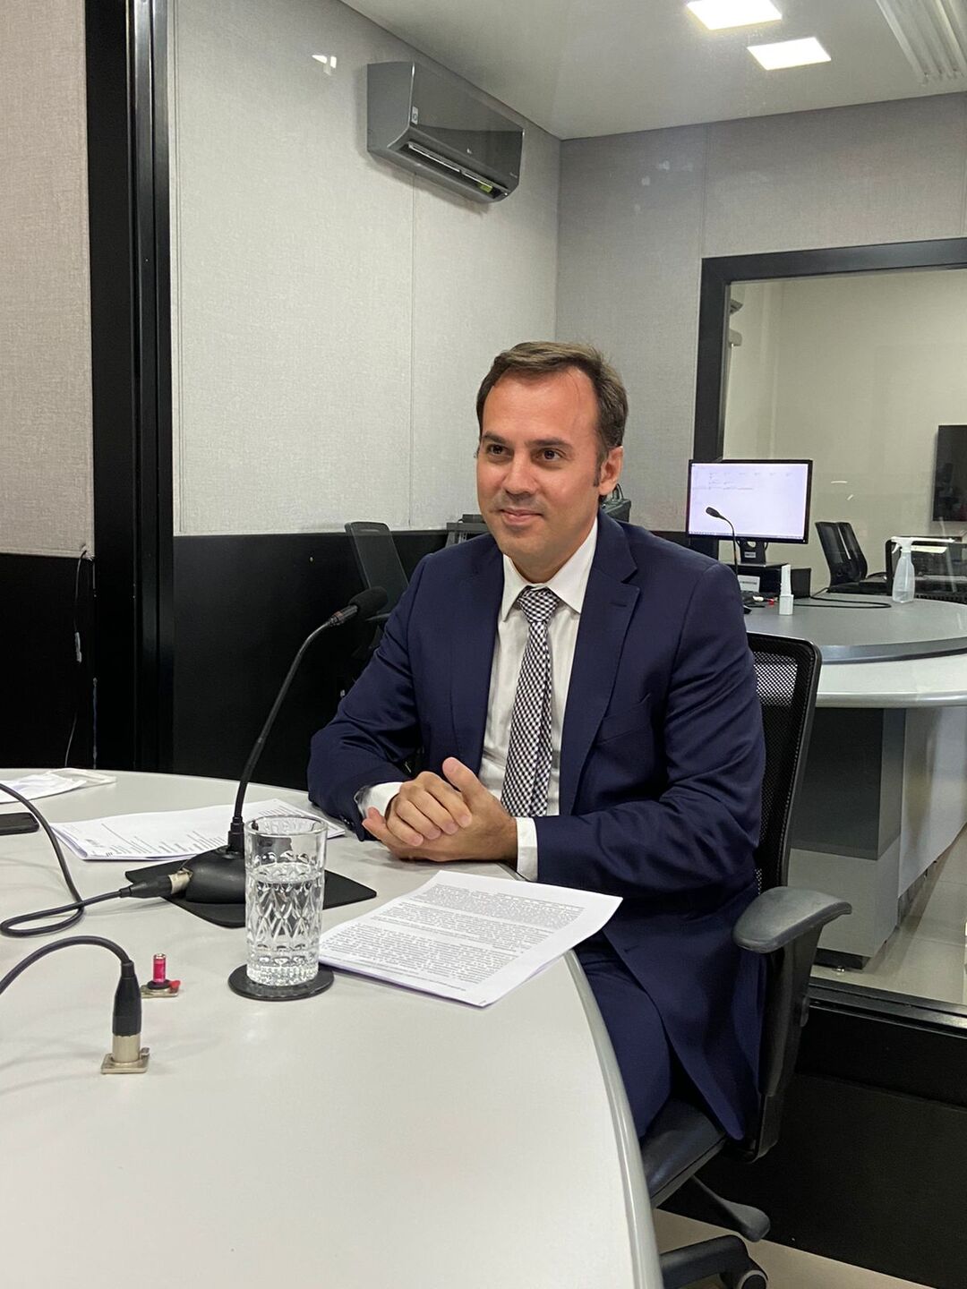
<svg viewBox="0 0 967 1289"><path fill-rule="evenodd" d="M499 860L623 897L580 946L643 1133L757 1100L761 713L730 568L600 513L627 397L587 345L520 344L477 397L491 536L416 568L312 741L309 795L402 858ZM422 750L422 773L405 763Z"/></svg>

